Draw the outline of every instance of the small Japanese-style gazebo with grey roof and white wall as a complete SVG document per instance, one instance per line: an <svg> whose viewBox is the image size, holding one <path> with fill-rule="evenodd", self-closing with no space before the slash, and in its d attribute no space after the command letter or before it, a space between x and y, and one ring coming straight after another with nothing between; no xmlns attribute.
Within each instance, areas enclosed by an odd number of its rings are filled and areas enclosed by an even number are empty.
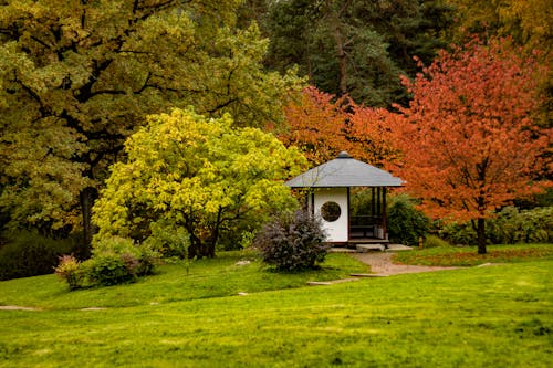
<svg viewBox="0 0 553 368"><path fill-rule="evenodd" d="M307 208L321 215L328 242L349 244L388 241L386 191L401 187L403 180L342 151L335 159L286 181L286 186L309 189ZM371 213L353 218L349 196L351 188L356 187L372 189L372 203Z"/></svg>

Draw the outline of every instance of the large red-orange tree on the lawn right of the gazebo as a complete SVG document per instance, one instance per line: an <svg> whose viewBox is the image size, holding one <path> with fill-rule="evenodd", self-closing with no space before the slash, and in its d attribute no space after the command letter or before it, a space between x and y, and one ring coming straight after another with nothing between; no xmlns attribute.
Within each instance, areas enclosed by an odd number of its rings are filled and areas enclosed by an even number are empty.
<svg viewBox="0 0 553 368"><path fill-rule="evenodd" d="M471 220L480 254L493 210L550 183L533 180L552 138L533 119L543 73L505 40L472 41L406 80L413 101L392 118L408 191L435 217Z"/></svg>

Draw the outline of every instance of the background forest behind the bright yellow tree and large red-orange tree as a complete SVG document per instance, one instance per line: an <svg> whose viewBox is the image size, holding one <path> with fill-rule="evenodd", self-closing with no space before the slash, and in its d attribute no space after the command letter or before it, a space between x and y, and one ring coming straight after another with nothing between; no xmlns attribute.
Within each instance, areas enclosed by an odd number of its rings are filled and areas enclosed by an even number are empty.
<svg viewBox="0 0 553 368"><path fill-rule="evenodd" d="M174 107L273 132L311 165L343 149L393 164L373 123L410 105L405 81L440 50L474 38L529 61L517 75L545 71L524 108L551 137L551 12L546 0L1 1L0 246L21 230L79 235L85 257L124 141ZM541 149L534 180L551 176Z"/></svg>

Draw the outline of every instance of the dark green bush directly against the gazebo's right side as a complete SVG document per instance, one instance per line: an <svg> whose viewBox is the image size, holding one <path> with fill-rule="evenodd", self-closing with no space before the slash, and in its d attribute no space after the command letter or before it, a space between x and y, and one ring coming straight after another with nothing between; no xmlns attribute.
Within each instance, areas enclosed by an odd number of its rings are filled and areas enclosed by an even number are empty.
<svg viewBox="0 0 553 368"><path fill-rule="evenodd" d="M406 194L392 197L388 207L388 235L394 242L418 245L420 236L428 231L430 221L415 208L413 199Z"/></svg>

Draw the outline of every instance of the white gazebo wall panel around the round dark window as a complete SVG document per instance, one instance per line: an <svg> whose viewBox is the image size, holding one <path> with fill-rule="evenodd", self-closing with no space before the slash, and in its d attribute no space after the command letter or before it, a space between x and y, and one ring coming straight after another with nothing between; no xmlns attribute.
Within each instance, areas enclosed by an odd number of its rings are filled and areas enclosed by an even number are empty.
<svg viewBox="0 0 553 368"><path fill-rule="evenodd" d="M348 239L348 199L347 188L322 188L313 196L315 213L321 215L321 207L326 202L336 202L340 206L341 214L336 221L328 222L322 219L323 228L328 235L328 242L347 242Z"/></svg>

